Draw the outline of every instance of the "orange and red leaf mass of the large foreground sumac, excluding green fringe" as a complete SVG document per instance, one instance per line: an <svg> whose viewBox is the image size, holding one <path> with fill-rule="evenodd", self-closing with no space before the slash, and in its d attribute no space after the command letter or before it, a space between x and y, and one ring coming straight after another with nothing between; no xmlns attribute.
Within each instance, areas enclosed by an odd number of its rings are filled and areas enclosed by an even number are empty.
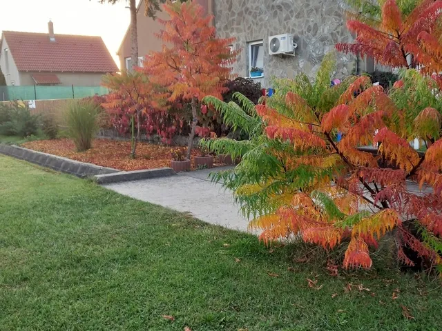
<svg viewBox="0 0 442 331"><path fill-rule="evenodd" d="M415 83L425 86L430 80L421 77ZM392 232L399 260L440 268L442 121L438 110L421 104L433 102L434 95L430 93L432 101L419 99L417 115L416 108L395 103L394 90L385 94L367 77L349 83L336 106L322 114L295 95L277 93L272 97L277 99L256 107L265 123L263 133L273 140L266 143L271 146L266 154L280 162L273 165L279 171L240 186L236 194L248 202L263 192L273 203L274 211L251 222L252 228L264 230L260 239L269 243L295 235L326 250L348 243L344 267L370 268L369 247L376 248ZM293 103L298 108L290 114ZM333 139L336 132L343 133L339 143ZM414 137L435 142L422 155L410 146ZM373 145L377 150L361 150ZM419 186L426 189L418 193Z"/></svg>

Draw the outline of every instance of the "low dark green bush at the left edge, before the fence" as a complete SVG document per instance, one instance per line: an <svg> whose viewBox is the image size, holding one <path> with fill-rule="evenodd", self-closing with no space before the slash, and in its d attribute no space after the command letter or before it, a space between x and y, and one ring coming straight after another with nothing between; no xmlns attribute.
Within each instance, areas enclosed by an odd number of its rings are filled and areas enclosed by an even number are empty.
<svg viewBox="0 0 442 331"><path fill-rule="evenodd" d="M14 101L0 108L0 134L28 137L37 134L39 117L30 113L28 106Z"/></svg>

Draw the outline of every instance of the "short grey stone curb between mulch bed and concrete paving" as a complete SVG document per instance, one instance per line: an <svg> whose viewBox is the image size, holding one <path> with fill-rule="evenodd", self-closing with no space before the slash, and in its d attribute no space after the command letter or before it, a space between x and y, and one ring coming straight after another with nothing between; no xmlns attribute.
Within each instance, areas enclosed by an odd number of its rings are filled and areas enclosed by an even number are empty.
<svg viewBox="0 0 442 331"><path fill-rule="evenodd" d="M122 181L140 181L142 179L152 179L159 177L169 177L175 175L172 168L157 168L149 170L122 171L113 174L98 174L94 177L99 184L119 183Z"/></svg>

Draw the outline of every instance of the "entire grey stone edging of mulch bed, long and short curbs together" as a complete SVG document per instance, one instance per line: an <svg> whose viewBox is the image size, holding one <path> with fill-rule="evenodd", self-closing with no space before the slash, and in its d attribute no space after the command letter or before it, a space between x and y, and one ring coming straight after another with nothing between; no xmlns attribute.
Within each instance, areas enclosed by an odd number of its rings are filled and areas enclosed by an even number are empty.
<svg viewBox="0 0 442 331"><path fill-rule="evenodd" d="M158 168L151 170L120 171L113 168L100 167L92 163L84 163L57 157L56 155L28 150L15 145L0 143L0 154L15 157L23 161L35 163L66 174L73 174L80 178L93 178L99 184L118 183L121 181L139 181L158 177L168 177L175 173L172 168Z"/></svg>

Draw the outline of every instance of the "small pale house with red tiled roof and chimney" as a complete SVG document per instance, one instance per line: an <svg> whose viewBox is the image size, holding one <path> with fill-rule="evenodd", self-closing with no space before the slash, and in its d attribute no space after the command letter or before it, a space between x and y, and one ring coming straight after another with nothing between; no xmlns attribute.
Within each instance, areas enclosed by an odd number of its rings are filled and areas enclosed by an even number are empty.
<svg viewBox="0 0 442 331"><path fill-rule="evenodd" d="M99 86L103 74L118 72L102 37L3 31L0 68L8 86Z"/></svg>

